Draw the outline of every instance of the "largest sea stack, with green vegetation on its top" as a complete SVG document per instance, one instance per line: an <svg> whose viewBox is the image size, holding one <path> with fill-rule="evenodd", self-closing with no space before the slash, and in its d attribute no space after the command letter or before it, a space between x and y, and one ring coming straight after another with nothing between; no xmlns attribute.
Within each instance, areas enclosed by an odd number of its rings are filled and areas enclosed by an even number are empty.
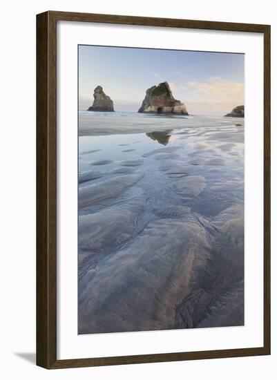
<svg viewBox="0 0 277 380"><path fill-rule="evenodd" d="M167 82L162 82L158 86L152 86L146 90L142 106L137 112L189 115L184 103L174 99Z"/></svg>

